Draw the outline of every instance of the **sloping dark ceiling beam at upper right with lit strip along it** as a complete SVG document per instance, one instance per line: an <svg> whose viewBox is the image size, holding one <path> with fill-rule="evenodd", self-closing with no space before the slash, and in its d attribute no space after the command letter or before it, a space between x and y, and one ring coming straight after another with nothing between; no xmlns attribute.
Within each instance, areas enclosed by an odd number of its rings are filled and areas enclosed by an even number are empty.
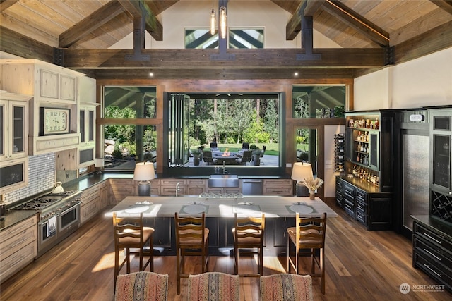
<svg viewBox="0 0 452 301"><path fill-rule="evenodd" d="M389 46L389 34L382 30L380 27L371 23L366 18L347 8L344 4L337 0L326 0L326 3L322 6L323 10L335 16L339 20L343 21L348 26L354 28L358 32L376 42L381 47Z"/></svg>

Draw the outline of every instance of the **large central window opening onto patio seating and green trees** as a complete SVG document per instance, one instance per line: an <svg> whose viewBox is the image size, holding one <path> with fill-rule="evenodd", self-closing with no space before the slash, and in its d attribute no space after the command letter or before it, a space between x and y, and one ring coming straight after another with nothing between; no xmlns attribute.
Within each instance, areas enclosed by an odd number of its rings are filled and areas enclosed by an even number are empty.
<svg viewBox="0 0 452 301"><path fill-rule="evenodd" d="M167 99L164 168L281 168L280 94L169 93Z"/></svg>

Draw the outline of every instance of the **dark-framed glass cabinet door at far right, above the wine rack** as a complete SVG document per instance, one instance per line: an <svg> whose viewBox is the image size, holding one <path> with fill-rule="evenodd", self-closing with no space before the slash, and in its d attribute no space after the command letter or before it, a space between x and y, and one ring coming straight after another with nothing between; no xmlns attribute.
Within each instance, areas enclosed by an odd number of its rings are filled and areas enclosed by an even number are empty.
<svg viewBox="0 0 452 301"><path fill-rule="evenodd" d="M432 113L432 185L451 192L452 111Z"/></svg>

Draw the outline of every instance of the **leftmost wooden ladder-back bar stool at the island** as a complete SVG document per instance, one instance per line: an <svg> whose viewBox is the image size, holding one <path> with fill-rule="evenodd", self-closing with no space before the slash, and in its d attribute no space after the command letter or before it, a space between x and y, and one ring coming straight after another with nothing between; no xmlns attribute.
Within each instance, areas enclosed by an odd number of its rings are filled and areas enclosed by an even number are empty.
<svg viewBox="0 0 452 301"><path fill-rule="evenodd" d="M144 271L150 266L150 271L154 269L153 257L153 233L154 229L143 226L143 214L140 216L117 216L113 213L113 230L114 230L114 286L116 287L116 279L124 264L126 264L127 274L130 273L130 255L139 254L140 271ZM149 242L150 252L149 259L143 265L143 255L145 244ZM125 258L119 263L120 250L124 249ZM131 249L138 249L131 251Z"/></svg>

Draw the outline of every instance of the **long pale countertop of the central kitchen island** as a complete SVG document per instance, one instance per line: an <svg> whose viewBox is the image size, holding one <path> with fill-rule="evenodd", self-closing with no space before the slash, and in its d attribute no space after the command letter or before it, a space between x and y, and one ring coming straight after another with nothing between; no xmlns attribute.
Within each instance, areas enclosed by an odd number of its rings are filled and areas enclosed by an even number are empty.
<svg viewBox="0 0 452 301"><path fill-rule="evenodd" d="M149 202L149 204L145 202ZM301 204L298 204L298 202ZM250 195L238 199L203 199L198 196L126 197L109 210L105 216L113 216L113 212L117 212L121 216L136 216L136 214L143 212L143 216L148 217L172 217L174 212L179 212L179 214L201 214L202 211L205 211L207 217L234 217L234 212L237 211L238 214L243 215L260 216L261 212L264 212L266 217L293 217L295 216L293 209L298 210L302 216L319 216L323 212L326 212L328 217L338 216L333 209L328 207L318 197L310 200L309 197L278 197L270 195Z"/></svg>

